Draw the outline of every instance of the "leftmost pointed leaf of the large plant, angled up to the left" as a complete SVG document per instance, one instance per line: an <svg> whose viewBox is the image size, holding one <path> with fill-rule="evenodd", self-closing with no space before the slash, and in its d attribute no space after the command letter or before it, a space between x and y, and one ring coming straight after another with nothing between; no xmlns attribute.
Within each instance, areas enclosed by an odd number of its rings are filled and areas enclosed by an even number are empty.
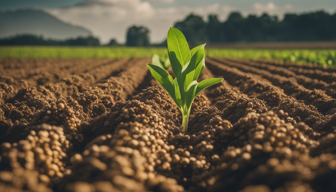
<svg viewBox="0 0 336 192"><path fill-rule="evenodd" d="M169 73L162 69L159 66L153 65L153 64L147 64L149 67L149 70L151 71L153 77L160 83L160 85L163 86L163 88L166 89L170 97L174 100L176 104L178 104L178 101L175 96L175 83L173 78L169 75Z"/></svg>

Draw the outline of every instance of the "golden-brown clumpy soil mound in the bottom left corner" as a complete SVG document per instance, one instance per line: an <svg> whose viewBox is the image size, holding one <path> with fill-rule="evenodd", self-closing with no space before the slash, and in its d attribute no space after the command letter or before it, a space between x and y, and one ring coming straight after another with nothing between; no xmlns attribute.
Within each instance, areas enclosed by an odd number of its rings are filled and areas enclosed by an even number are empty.
<svg viewBox="0 0 336 192"><path fill-rule="evenodd" d="M64 176L71 148L62 127L31 126L25 140L2 143L0 188L52 191L47 186Z"/></svg>

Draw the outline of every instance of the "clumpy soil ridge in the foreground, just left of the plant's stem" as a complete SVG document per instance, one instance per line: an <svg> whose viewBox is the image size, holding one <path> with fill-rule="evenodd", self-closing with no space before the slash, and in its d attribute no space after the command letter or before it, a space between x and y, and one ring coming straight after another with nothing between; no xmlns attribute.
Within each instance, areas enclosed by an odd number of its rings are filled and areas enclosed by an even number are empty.
<svg viewBox="0 0 336 192"><path fill-rule="evenodd" d="M72 158L73 175L66 179L66 190L78 191L82 188L73 186L83 182L81 187L97 189L106 179L112 181L106 184L111 190L183 190L176 180L154 172L169 169L172 158L167 152L171 147L165 141L180 131L178 127L166 124L150 105L137 100L117 102L104 120L104 127L92 130L101 131L102 136L91 141L82 155ZM95 172L94 180L91 171Z"/></svg>

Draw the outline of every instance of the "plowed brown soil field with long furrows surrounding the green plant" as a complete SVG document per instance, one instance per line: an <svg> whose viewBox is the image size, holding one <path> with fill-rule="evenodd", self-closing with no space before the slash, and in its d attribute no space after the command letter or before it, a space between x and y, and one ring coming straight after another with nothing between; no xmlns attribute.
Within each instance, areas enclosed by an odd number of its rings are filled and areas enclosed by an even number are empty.
<svg viewBox="0 0 336 192"><path fill-rule="evenodd" d="M150 60L0 59L0 191L336 191L336 69L207 58L185 133Z"/></svg>

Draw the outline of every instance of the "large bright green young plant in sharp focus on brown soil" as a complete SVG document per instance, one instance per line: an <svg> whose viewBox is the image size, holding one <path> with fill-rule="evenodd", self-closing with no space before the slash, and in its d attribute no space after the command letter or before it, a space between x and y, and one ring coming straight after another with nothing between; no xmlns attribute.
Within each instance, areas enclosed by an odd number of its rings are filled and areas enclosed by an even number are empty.
<svg viewBox="0 0 336 192"><path fill-rule="evenodd" d="M171 27L167 36L168 56L175 75L173 79L166 70L154 64L147 64L153 77L166 89L182 113L182 125L187 131L191 106L195 97L205 88L223 79L210 78L197 82L205 67L204 46L189 50L184 35Z"/></svg>

